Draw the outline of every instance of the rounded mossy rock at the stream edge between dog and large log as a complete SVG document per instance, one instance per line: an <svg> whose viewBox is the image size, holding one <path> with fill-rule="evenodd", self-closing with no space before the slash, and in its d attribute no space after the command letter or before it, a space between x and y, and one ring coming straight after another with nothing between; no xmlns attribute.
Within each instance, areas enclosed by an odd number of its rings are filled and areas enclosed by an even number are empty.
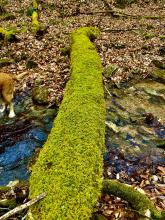
<svg viewBox="0 0 165 220"><path fill-rule="evenodd" d="M46 87L35 86L32 90L33 102L39 105L48 104L49 91Z"/></svg>

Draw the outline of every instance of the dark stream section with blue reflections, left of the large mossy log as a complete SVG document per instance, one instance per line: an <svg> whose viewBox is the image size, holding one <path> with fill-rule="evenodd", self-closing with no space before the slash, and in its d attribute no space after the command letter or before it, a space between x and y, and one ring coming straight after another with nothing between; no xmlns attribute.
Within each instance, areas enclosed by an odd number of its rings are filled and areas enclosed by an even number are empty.
<svg viewBox="0 0 165 220"><path fill-rule="evenodd" d="M0 117L0 185L27 180L29 161L52 128L57 109L35 106L30 97L14 100L16 117Z"/></svg>

